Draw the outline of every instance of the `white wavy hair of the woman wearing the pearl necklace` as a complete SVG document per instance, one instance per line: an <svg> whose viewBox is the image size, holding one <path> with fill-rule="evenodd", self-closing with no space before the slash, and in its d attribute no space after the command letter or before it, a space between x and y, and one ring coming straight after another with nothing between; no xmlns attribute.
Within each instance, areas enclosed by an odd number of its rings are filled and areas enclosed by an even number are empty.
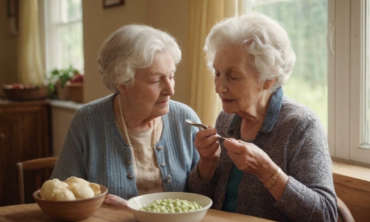
<svg viewBox="0 0 370 222"><path fill-rule="evenodd" d="M181 49L166 31L144 24L118 28L105 39L98 53L103 84L116 92L117 84L134 84L136 71L150 67L157 51L167 50L177 66L181 61Z"/></svg>

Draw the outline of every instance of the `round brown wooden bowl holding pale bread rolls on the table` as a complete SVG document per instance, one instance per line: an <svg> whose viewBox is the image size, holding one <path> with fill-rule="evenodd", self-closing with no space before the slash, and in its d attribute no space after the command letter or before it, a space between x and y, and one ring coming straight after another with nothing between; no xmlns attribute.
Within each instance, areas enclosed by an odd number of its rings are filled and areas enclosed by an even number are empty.
<svg viewBox="0 0 370 222"><path fill-rule="evenodd" d="M61 221L78 221L95 213L104 201L108 188L100 185L101 194L77 201L52 201L40 197L40 189L33 192L33 198L44 213Z"/></svg>

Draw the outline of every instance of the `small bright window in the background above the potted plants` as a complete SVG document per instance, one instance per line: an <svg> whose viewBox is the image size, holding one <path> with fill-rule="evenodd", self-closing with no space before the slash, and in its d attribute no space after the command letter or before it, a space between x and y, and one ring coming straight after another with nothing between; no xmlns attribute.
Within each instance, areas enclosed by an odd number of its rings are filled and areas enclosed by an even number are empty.
<svg viewBox="0 0 370 222"><path fill-rule="evenodd" d="M44 0L47 74L72 65L84 68L81 0Z"/></svg>

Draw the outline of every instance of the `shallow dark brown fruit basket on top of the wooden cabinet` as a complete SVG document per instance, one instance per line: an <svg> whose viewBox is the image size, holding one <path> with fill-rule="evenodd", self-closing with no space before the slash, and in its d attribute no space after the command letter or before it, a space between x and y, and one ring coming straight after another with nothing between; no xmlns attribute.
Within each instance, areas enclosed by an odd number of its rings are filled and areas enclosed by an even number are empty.
<svg viewBox="0 0 370 222"><path fill-rule="evenodd" d="M31 101L43 100L47 97L47 88L29 88L29 89L7 89L3 88L4 94L9 100L13 101Z"/></svg>

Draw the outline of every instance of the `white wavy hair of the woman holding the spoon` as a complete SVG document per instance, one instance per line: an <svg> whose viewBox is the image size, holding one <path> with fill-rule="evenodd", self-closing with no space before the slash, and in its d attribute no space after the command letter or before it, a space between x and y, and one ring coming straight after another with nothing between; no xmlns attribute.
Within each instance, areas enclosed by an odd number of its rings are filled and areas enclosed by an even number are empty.
<svg viewBox="0 0 370 222"><path fill-rule="evenodd" d="M229 17L216 23L205 40L203 51L213 73L213 61L219 47L234 45L251 56L250 65L261 81L276 78L271 92L284 85L292 74L296 55L286 30L276 20L257 12Z"/></svg>

